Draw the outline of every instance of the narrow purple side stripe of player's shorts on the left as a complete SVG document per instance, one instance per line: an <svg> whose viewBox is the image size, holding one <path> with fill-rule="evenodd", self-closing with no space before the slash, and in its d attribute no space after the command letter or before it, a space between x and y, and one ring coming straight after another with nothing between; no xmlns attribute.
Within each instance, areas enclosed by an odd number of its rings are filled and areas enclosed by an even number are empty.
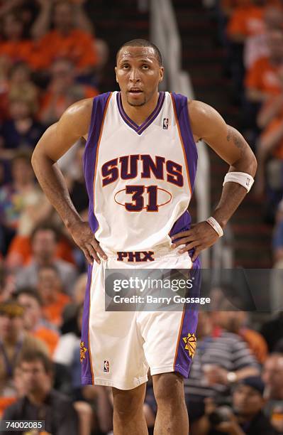
<svg viewBox="0 0 283 435"><path fill-rule="evenodd" d="M89 264L87 271L87 289L84 296L84 312L82 314L82 339L81 339L81 362L82 362L82 384L89 385L93 383L91 355L89 350L89 306L91 291L91 273L92 266Z"/></svg>

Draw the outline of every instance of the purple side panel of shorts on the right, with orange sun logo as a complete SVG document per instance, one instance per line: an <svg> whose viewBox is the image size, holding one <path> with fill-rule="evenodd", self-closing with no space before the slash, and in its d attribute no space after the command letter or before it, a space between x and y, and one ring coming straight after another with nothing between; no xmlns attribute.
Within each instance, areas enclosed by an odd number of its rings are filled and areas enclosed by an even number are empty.
<svg viewBox="0 0 283 435"><path fill-rule="evenodd" d="M191 275L194 276L194 287L186 296L194 296L195 298L199 296L201 287L201 269L199 257L193 263ZM190 278L192 278L191 275ZM190 343L190 340L193 342L195 340L198 314L199 312L196 309L195 304L186 304L184 308L182 331L179 335L179 343L177 343L177 355L174 362L174 371L179 372L184 377L189 377L189 370L192 365L194 353L190 355L190 349L192 349L192 343Z"/></svg>

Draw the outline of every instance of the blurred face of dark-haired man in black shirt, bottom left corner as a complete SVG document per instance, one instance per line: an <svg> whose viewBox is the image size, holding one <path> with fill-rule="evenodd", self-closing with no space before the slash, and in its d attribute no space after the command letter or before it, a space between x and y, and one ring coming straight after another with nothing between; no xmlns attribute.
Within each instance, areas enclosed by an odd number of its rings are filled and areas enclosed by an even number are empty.
<svg viewBox="0 0 283 435"><path fill-rule="evenodd" d="M47 385L51 385L51 375L45 372L40 360L23 361L20 368L23 390L26 394L41 392L43 387L45 390Z"/></svg>

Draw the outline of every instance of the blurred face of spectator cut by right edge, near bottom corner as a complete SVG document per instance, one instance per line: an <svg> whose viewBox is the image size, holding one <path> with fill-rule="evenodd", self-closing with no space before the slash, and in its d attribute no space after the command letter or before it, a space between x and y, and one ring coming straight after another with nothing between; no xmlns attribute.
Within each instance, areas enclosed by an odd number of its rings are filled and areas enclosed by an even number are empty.
<svg viewBox="0 0 283 435"><path fill-rule="evenodd" d="M277 397L283 390L283 356L274 355L267 358L262 370L262 380L270 394Z"/></svg>

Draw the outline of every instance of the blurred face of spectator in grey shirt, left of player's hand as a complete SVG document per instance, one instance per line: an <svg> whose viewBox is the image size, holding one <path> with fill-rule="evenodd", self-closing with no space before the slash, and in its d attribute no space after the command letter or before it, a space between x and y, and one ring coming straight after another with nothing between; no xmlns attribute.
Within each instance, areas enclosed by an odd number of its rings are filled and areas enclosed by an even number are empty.
<svg viewBox="0 0 283 435"><path fill-rule="evenodd" d="M33 237L33 256L43 262L50 262L54 257L56 237L52 230L38 230Z"/></svg>

